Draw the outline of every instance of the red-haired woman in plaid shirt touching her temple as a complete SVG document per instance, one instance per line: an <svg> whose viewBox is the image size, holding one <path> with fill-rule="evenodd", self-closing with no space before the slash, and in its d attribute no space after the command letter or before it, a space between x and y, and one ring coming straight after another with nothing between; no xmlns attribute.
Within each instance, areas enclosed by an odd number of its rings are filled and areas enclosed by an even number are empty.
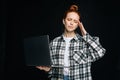
<svg viewBox="0 0 120 80"><path fill-rule="evenodd" d="M71 5L63 17L64 32L50 43L51 68L36 66L48 71L51 80L92 80L91 63L105 54L98 37L92 37L80 22L77 5ZM76 32L79 27L82 36Z"/></svg>

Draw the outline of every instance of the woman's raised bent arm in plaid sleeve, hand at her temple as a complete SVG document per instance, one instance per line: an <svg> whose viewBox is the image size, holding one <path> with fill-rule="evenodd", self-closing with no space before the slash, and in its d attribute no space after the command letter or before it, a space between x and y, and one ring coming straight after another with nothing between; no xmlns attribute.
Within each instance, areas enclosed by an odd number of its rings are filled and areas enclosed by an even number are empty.
<svg viewBox="0 0 120 80"><path fill-rule="evenodd" d="M88 46L87 55L89 56L89 59L91 61L95 61L101 58L106 52L106 50L100 44L99 37L92 37L91 35L89 35L81 22L79 22L79 27L80 27L83 39Z"/></svg>

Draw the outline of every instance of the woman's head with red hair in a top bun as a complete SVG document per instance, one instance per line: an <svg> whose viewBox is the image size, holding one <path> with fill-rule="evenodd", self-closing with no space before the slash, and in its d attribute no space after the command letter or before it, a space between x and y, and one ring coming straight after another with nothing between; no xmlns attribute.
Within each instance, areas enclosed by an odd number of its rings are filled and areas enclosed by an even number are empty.
<svg viewBox="0 0 120 80"><path fill-rule="evenodd" d="M78 27L79 20L80 14L78 12L78 6L71 5L63 16L63 24L65 26L65 31L74 32Z"/></svg>

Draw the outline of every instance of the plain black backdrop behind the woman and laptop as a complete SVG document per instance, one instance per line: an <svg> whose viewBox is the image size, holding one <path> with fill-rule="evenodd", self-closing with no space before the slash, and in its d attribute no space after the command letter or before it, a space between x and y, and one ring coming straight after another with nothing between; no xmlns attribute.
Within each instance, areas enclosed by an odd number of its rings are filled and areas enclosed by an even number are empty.
<svg viewBox="0 0 120 80"><path fill-rule="evenodd" d="M93 36L99 36L106 55L92 65L93 80L118 80L120 76L119 18L117 0L2 0L0 25L1 80L47 80L44 71L24 63L25 37L48 34L50 40L62 33L62 16L78 4L82 22Z"/></svg>

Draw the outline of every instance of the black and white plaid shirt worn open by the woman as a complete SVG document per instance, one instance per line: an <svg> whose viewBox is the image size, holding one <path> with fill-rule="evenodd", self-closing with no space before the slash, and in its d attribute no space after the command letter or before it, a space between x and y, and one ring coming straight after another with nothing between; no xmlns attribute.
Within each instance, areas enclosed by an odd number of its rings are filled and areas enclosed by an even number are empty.
<svg viewBox="0 0 120 80"><path fill-rule="evenodd" d="M56 37L50 43L50 55L53 68L50 71L51 80L63 80L65 40L63 35ZM92 80L91 63L101 58L105 49L99 43L98 37L88 33L80 36L76 33L69 47L69 80Z"/></svg>

